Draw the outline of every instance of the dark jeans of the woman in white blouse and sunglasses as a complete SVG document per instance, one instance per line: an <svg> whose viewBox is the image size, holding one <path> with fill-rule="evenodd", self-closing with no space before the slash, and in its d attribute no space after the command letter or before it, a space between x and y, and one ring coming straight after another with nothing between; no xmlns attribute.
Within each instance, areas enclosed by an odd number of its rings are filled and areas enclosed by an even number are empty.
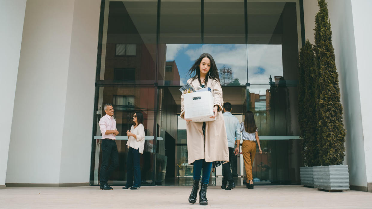
<svg viewBox="0 0 372 209"><path fill-rule="evenodd" d="M126 184L125 186L140 187L141 186L141 168L140 168L141 153L132 147L129 147L128 157L126 158ZM133 184L134 172L134 184Z"/></svg>

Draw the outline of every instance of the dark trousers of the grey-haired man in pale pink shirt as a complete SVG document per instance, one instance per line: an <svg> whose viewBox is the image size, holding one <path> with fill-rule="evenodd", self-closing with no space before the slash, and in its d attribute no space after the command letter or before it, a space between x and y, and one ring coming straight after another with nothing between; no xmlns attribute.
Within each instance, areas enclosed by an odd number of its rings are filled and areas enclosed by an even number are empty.
<svg viewBox="0 0 372 209"><path fill-rule="evenodd" d="M110 158L111 165L109 167ZM116 146L115 140L102 139L102 163L99 174L99 180L102 186L107 183L107 180L118 165L118 147Z"/></svg>

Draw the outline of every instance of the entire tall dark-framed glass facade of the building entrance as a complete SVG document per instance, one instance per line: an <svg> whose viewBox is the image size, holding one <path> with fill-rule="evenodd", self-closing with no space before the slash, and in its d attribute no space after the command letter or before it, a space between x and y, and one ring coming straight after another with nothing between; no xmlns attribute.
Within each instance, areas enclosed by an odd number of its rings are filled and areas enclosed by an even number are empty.
<svg viewBox="0 0 372 209"><path fill-rule="evenodd" d="M125 184L126 130L136 111L146 135L142 186L192 182L179 88L201 53L214 57L232 114L240 121L247 110L256 114L263 150L254 160L256 184L298 184L299 7L298 0L102 0L90 184L99 184L98 121L106 103L119 131L119 167L109 182ZM231 169L243 182L242 158L233 157Z"/></svg>

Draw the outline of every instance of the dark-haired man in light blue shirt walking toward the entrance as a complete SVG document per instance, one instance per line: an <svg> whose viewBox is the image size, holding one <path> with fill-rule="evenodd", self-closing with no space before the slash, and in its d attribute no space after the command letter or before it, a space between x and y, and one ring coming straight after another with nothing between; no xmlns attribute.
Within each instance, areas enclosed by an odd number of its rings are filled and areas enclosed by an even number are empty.
<svg viewBox="0 0 372 209"><path fill-rule="evenodd" d="M222 164L224 178L222 179L221 189L231 190L235 188L234 179L232 178L232 173L230 170L231 164L231 157L234 154L234 146L235 146L235 137L236 139L240 139L240 126L239 120L234 115L231 114L231 104L230 102L226 102L224 104L224 120L226 126L226 134L227 134L227 144L229 147L229 162ZM227 181L229 181L229 185L227 185Z"/></svg>

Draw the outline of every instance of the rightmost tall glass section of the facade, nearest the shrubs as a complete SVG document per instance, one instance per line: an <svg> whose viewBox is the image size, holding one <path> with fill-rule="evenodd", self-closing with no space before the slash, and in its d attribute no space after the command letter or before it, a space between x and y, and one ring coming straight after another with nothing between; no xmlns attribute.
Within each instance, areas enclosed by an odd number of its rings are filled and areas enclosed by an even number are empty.
<svg viewBox="0 0 372 209"><path fill-rule="evenodd" d="M296 11L293 2L247 2L247 108L255 113L263 150L253 167L257 183L299 181Z"/></svg>

